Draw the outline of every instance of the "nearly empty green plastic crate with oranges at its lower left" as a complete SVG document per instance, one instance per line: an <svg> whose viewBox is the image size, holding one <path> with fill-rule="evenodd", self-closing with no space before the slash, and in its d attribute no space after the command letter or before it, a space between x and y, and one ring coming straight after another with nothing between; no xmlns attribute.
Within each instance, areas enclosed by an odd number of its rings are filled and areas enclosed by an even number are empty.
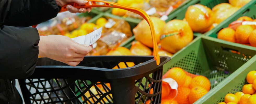
<svg viewBox="0 0 256 104"><path fill-rule="evenodd" d="M244 70L245 68L241 66L248 65L249 62L247 61L256 54L254 47L230 43L204 35L196 37L188 46L178 51L169 62L164 64L163 74L170 68L180 67L189 73L206 76L211 82L211 89L219 88L222 86L218 85L220 82L237 69ZM237 54L238 52L240 54ZM214 92L216 90L210 90L196 103L202 103L202 99Z"/></svg>

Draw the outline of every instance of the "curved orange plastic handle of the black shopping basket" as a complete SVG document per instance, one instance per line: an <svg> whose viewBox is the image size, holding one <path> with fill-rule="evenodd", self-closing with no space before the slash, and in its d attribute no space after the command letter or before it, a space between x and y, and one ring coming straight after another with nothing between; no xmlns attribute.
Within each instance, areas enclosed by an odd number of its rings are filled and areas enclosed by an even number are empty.
<svg viewBox="0 0 256 104"><path fill-rule="evenodd" d="M154 48L154 50L153 50L154 51L154 60L156 60L156 65L160 64L160 57L159 57L158 49L157 49L158 47L157 47L157 43L156 43L154 25L153 25L153 22L152 22L151 18L149 17L149 15L145 11L143 11L139 8L133 8L133 7L124 6L124 5L120 5L120 4L117 4L117 3L107 2L107 1L102 1L102 0L87 0L87 1L90 1L92 3L92 5L89 5L89 2L87 2L85 5L79 5L77 3L70 3L70 4L67 4L67 5L72 5L75 8L78 8L78 9L80 9L80 8L92 8L92 7L120 8L120 9L124 9L124 10L134 12L134 13L142 16L148 22L149 27L150 27L150 31L151 31L151 35L152 35L152 41L153 41L153 48ZM98 4L96 4L96 2L104 3L104 5L98 5ZM61 8L60 12L67 11L67 5L63 6Z"/></svg>

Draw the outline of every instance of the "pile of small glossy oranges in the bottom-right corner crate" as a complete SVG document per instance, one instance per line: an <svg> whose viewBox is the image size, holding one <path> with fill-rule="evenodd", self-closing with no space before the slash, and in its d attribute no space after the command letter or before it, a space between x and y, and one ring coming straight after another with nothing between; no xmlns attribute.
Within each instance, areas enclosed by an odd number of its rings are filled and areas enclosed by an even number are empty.
<svg viewBox="0 0 256 104"><path fill-rule="evenodd" d="M243 86L242 92L227 94L224 97L225 102L219 104L256 104L256 71L249 72L246 80L249 84Z"/></svg>

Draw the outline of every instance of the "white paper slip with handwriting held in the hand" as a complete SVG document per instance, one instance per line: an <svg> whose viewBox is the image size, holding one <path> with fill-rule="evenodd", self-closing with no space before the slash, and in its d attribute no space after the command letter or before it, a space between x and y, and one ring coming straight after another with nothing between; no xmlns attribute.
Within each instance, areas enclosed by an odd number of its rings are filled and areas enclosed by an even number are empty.
<svg viewBox="0 0 256 104"><path fill-rule="evenodd" d="M92 31L90 34L72 38L72 40L74 40L75 42L77 42L79 44L86 44L86 45L90 46L101 37L101 32L102 32L102 27L97 30Z"/></svg>

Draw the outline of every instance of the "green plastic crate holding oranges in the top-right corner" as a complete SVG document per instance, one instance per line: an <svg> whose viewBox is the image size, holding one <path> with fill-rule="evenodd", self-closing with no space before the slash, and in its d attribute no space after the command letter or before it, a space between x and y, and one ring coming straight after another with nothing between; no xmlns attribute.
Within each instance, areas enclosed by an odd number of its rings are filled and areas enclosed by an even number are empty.
<svg viewBox="0 0 256 104"><path fill-rule="evenodd" d="M248 17L251 17L252 19L256 19L256 0L252 0L251 2L243 6L242 9L240 9L235 14L227 18L225 21L217 25L211 31L208 31L208 33L206 33L205 35L217 38L217 34L221 29L228 27L230 23L232 23L233 21L236 21L239 17L242 17L242 16L248 16Z"/></svg>

